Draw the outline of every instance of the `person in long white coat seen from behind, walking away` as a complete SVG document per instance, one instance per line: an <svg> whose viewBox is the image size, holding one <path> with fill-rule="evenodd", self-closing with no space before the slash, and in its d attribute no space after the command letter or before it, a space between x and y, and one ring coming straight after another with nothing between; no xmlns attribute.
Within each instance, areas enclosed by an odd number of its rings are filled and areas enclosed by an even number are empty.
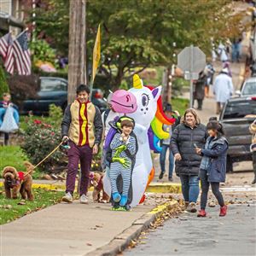
<svg viewBox="0 0 256 256"><path fill-rule="evenodd" d="M213 94L217 102L216 113L220 113L221 109L224 107L224 103L230 99L233 94L233 83L232 79L228 75L229 70L227 67L218 74L213 84Z"/></svg>

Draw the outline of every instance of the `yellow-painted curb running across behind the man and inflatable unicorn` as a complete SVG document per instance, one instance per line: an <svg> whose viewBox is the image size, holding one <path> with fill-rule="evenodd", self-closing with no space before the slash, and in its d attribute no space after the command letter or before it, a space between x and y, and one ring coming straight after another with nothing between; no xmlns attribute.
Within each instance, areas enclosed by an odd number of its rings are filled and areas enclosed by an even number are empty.
<svg viewBox="0 0 256 256"><path fill-rule="evenodd" d="M0 187L3 187L3 182L0 182ZM65 191L65 184L42 184L42 183L32 183L32 189L48 189L48 190L63 190ZM77 187L76 187L77 189ZM75 189L75 191L76 191ZM88 189L89 191L93 191L93 187ZM151 183L146 189L146 192L151 193L181 193L181 184L180 183Z"/></svg>

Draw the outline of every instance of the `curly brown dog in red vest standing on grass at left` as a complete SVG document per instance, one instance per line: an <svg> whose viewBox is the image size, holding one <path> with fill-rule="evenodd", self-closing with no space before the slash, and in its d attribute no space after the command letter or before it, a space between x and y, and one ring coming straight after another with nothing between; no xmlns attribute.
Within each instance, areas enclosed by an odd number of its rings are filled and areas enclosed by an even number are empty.
<svg viewBox="0 0 256 256"><path fill-rule="evenodd" d="M27 198L30 201L34 200L31 176L34 166L28 161L24 162L24 166L26 166L26 172L29 172L26 176L23 172L17 172L13 166L6 166L3 168L3 183L7 198L16 199L20 192L22 199Z"/></svg>

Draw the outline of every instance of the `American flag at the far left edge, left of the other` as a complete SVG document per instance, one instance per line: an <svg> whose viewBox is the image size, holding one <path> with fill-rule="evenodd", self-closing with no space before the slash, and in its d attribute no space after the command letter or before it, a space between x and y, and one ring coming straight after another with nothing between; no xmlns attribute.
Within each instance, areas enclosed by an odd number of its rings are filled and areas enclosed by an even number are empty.
<svg viewBox="0 0 256 256"><path fill-rule="evenodd" d="M0 53L3 56L3 64L6 71L11 74L15 70L12 44L13 39L10 32L3 36L3 38L0 38Z"/></svg>

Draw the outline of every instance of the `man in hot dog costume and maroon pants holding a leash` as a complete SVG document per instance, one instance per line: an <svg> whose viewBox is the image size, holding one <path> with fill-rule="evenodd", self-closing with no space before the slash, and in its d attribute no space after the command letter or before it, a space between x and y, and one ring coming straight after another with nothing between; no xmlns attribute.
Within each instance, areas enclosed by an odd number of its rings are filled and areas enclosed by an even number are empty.
<svg viewBox="0 0 256 256"><path fill-rule="evenodd" d="M66 195L62 201L72 202L75 180L80 161L80 202L88 203L87 191L90 181L90 164L92 154L98 153L102 140L102 116L100 110L89 101L90 89L80 84L77 88L77 98L65 109L61 123L63 141L69 141L67 152L68 170Z"/></svg>

